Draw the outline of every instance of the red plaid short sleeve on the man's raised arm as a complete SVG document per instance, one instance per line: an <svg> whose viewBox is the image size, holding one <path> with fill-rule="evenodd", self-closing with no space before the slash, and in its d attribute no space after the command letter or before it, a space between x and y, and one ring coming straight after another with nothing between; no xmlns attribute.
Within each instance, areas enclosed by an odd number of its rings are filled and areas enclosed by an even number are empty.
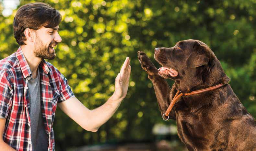
<svg viewBox="0 0 256 151"><path fill-rule="evenodd" d="M67 79L64 75L57 70L60 82L60 98L58 99L58 103L63 102L69 98L75 97L74 93L72 92L70 86L68 85Z"/></svg>

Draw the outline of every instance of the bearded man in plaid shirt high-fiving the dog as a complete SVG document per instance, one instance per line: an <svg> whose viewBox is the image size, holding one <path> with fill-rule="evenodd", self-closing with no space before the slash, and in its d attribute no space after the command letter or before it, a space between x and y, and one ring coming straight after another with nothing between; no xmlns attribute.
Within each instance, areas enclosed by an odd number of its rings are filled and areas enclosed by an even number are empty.
<svg viewBox="0 0 256 151"><path fill-rule="evenodd" d="M13 27L20 47L0 61L1 150L54 150L52 124L57 104L81 127L96 132L127 94L128 57L105 104L89 110L76 99L63 74L44 60L56 57L54 47L62 41L60 22L60 13L48 4L27 4L17 11Z"/></svg>

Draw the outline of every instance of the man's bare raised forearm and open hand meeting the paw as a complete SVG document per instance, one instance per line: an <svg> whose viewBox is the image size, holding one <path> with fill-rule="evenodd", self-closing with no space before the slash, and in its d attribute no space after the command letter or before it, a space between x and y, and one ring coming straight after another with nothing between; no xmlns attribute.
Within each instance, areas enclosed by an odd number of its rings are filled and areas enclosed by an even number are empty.
<svg viewBox="0 0 256 151"><path fill-rule="evenodd" d="M131 73L129 64L130 60L127 57L116 77L114 94L99 108L89 110L76 97L58 103L58 106L81 127L96 132L112 117L127 94Z"/></svg>

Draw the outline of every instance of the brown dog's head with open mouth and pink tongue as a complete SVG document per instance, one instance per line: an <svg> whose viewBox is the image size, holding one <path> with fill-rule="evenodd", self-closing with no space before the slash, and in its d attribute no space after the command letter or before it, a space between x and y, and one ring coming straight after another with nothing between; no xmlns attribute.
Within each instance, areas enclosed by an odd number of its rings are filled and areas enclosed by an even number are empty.
<svg viewBox="0 0 256 151"><path fill-rule="evenodd" d="M154 57L162 65L158 74L175 80L183 93L202 84L212 86L229 81L212 50L198 40L180 41L171 48L156 48Z"/></svg>

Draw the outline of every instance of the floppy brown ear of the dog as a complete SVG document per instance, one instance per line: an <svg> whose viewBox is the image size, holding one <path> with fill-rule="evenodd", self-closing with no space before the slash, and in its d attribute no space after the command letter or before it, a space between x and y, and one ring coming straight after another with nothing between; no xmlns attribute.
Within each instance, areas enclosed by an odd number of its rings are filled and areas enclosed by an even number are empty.
<svg viewBox="0 0 256 151"><path fill-rule="evenodd" d="M186 60L186 66L188 68L196 68L207 65L210 58L210 49L204 45L201 45L198 41L195 41L193 50Z"/></svg>

